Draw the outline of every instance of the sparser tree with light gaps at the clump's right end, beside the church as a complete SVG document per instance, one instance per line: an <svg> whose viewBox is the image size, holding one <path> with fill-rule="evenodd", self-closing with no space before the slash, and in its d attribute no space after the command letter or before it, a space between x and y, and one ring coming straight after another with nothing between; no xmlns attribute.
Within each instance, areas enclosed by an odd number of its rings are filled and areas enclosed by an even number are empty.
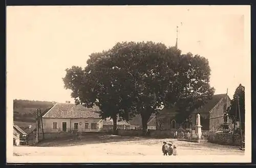
<svg viewBox="0 0 256 168"><path fill-rule="evenodd" d="M191 120L192 111L212 98L215 89L209 85L210 67L204 57L191 53L182 54L177 68L178 79L175 88L178 88L179 93L175 105L179 114L176 116L176 121L183 123Z"/></svg>

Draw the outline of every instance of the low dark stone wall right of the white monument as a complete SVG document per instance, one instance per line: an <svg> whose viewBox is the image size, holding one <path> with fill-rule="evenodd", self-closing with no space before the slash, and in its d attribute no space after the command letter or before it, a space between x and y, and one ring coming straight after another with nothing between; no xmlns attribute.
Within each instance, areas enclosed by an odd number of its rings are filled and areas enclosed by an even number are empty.
<svg viewBox="0 0 256 168"><path fill-rule="evenodd" d="M244 142L244 135L242 135ZM222 145L241 146L241 135L232 133L215 133L208 137L208 142Z"/></svg>

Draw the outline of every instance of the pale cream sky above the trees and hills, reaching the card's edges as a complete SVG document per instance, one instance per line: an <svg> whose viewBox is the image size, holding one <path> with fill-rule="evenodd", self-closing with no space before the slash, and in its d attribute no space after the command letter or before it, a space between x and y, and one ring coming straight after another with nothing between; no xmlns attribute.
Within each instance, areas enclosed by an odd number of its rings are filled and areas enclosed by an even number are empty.
<svg viewBox="0 0 256 168"><path fill-rule="evenodd" d="M178 48L207 58L215 94L228 88L232 98L240 83L248 84L242 11L230 6L8 6L7 94L74 102L62 81L66 68L85 67L91 53L121 41L174 46L178 25Z"/></svg>

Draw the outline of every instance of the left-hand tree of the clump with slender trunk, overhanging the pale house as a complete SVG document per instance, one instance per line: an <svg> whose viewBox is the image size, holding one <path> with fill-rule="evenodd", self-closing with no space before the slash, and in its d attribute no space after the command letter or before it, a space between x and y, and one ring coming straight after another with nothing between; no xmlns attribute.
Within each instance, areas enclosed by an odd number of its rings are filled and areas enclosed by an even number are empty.
<svg viewBox="0 0 256 168"><path fill-rule="evenodd" d="M63 81L65 88L72 90L71 96L77 104L99 106L102 119L111 117L116 131L117 117L127 120L132 109L126 72L115 65L111 54L110 50L91 54L86 68L66 69Z"/></svg>

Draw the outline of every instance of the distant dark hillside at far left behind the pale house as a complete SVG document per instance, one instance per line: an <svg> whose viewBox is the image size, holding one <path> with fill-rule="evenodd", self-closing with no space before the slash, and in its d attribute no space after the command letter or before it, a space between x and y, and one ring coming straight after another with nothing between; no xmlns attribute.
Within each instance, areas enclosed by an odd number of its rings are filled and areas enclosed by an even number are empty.
<svg viewBox="0 0 256 168"><path fill-rule="evenodd" d="M13 100L13 122L20 128L25 129L29 124L34 127L36 109L41 109L41 113L44 113L56 102L50 101L31 101L31 100Z"/></svg>

